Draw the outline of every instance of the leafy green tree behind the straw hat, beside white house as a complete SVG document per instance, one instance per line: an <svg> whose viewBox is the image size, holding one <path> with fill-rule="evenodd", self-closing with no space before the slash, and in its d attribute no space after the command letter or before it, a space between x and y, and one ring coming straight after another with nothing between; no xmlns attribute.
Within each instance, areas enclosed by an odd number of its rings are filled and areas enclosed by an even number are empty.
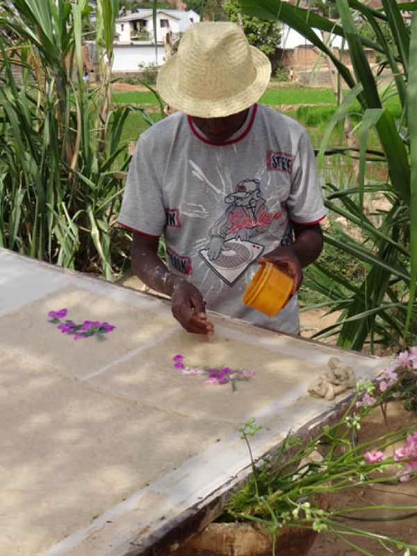
<svg viewBox="0 0 417 556"><path fill-rule="evenodd" d="M226 0L223 9L230 22L239 22L240 4L238 0ZM281 41L281 25L277 21L262 21L258 17L242 15L243 31L253 47L259 48L275 61L279 43Z"/></svg>

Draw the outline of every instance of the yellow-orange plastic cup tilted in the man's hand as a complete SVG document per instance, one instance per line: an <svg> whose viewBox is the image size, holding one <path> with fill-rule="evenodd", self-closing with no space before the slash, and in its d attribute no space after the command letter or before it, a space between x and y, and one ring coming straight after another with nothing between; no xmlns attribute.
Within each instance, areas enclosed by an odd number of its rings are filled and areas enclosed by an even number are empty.
<svg viewBox="0 0 417 556"><path fill-rule="evenodd" d="M261 263L247 286L242 301L268 317L273 317L288 301L293 284L291 276L279 270L273 263Z"/></svg>

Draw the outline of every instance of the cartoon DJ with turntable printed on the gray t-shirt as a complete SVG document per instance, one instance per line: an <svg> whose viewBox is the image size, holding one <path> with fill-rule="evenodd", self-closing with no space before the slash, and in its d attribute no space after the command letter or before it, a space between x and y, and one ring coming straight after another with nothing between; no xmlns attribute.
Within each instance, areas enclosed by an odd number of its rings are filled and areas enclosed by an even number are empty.
<svg viewBox="0 0 417 556"><path fill-rule="evenodd" d="M239 181L224 202L226 210L211 228L208 246L199 254L215 274L233 286L264 250L256 236L268 231L273 220L284 224L286 215L282 210L270 213L259 179Z"/></svg>

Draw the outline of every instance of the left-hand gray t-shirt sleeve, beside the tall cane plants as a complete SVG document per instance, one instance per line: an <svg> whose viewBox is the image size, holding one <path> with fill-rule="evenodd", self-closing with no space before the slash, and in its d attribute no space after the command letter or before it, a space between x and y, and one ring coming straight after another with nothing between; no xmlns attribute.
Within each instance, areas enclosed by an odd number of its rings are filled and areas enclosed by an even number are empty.
<svg viewBox="0 0 417 556"><path fill-rule="evenodd" d="M136 144L117 222L141 234L158 237L165 228L165 207L161 181L146 135L142 134Z"/></svg>

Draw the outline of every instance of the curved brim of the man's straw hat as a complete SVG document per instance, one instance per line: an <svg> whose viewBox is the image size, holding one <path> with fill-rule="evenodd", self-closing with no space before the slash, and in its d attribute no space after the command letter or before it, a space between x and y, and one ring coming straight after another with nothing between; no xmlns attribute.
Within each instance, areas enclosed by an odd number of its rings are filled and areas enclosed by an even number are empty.
<svg viewBox="0 0 417 556"><path fill-rule="evenodd" d="M236 114L258 101L268 86L271 65L268 57L256 47L250 47L256 74L252 83L231 97L196 99L178 86L178 58L172 56L161 67L156 81L156 88L163 100L173 108L196 117L224 117ZM225 69L225 71L227 71Z"/></svg>

